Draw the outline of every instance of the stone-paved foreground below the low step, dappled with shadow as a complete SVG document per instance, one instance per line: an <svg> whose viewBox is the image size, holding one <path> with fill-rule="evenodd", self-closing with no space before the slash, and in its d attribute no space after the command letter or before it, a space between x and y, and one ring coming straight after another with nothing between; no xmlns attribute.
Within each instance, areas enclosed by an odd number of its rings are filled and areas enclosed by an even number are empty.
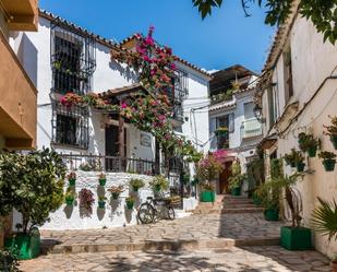
<svg viewBox="0 0 337 272"><path fill-rule="evenodd" d="M286 272L326 271L328 260L315 251L280 247L227 248L190 252L100 252L50 255L25 261L24 272Z"/></svg>

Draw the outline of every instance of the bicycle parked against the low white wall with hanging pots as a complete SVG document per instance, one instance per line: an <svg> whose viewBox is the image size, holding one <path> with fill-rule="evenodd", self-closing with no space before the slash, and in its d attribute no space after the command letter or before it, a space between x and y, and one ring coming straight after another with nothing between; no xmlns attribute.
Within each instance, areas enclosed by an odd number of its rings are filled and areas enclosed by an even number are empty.
<svg viewBox="0 0 337 272"><path fill-rule="evenodd" d="M174 220L176 213L170 202L168 199L148 197L146 202L141 204L137 218L142 224L151 224L159 218Z"/></svg>

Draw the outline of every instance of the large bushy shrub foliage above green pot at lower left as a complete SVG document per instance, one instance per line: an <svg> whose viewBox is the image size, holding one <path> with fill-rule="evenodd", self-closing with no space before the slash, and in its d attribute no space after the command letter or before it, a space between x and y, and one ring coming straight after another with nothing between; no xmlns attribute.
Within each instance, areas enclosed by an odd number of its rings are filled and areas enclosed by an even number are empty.
<svg viewBox="0 0 337 272"><path fill-rule="evenodd" d="M63 202L65 165L49 149L27 155L0 154L0 206L2 214L15 208L27 225L41 225ZM4 205L4 206L3 206Z"/></svg>

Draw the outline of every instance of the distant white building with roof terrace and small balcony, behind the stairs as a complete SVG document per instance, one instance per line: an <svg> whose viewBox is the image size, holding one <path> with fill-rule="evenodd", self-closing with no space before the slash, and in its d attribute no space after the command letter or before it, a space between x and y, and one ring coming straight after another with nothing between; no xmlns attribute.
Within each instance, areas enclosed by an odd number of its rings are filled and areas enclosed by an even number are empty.
<svg viewBox="0 0 337 272"><path fill-rule="evenodd" d="M262 125L254 116L253 97L257 74L242 66L232 66L213 74L209 83L209 139L210 151L226 150L228 157L219 176L217 193L228 193L230 166L237 158L245 165L256 157L255 149L262 139ZM220 127L228 128L226 135L216 135ZM246 185L243 191L246 191Z"/></svg>

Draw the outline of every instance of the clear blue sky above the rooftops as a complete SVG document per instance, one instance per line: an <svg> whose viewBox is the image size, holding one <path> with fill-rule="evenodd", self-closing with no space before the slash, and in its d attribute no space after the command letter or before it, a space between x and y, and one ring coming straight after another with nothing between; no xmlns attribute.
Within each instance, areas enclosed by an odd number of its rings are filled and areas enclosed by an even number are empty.
<svg viewBox="0 0 337 272"><path fill-rule="evenodd" d="M225 0L203 21L191 0L39 0L41 9L107 38L122 40L154 25L160 44L200 68L240 63L258 72L275 29L257 7L244 17L240 2Z"/></svg>

